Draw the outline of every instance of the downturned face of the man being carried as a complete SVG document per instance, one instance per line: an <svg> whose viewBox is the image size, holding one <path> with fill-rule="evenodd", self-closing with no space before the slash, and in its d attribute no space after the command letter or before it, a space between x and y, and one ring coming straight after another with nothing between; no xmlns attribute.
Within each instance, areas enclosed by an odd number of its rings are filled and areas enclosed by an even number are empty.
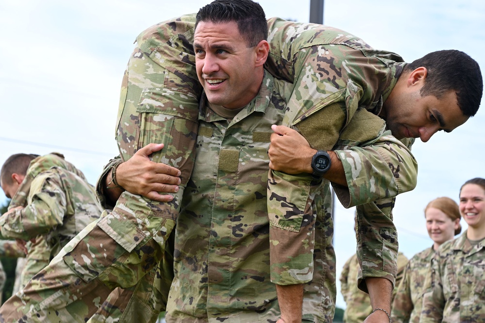
<svg viewBox="0 0 485 323"><path fill-rule="evenodd" d="M423 84L421 81L396 89L399 91L384 103L386 123L394 137L421 138L426 142L437 131L451 132L469 119L458 106L456 92L449 91L440 99L434 95L421 96Z"/></svg>

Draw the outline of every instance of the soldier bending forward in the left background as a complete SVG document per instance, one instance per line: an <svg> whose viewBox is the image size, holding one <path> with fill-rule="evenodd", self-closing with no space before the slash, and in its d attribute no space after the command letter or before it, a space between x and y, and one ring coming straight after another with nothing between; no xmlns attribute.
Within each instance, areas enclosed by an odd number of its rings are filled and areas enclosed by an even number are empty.
<svg viewBox="0 0 485 323"><path fill-rule="evenodd" d="M89 223L101 215L94 186L62 154L14 154L0 171L11 199L0 217L2 256L18 257L13 293L22 290Z"/></svg>

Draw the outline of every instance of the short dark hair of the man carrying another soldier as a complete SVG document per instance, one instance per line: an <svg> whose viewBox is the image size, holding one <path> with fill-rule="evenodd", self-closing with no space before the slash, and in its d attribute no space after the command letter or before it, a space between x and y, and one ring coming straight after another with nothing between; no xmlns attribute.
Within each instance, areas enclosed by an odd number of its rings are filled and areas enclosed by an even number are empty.
<svg viewBox="0 0 485 323"><path fill-rule="evenodd" d="M248 47L268 38L268 23L263 8L251 0L215 0L200 8L195 27L200 21L213 23L234 21Z"/></svg>

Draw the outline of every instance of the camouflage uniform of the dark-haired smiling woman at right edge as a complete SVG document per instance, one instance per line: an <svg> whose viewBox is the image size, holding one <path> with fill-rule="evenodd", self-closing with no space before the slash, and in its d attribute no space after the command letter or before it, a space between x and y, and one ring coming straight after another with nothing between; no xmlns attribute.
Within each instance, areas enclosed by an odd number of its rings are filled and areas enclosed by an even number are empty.
<svg viewBox="0 0 485 323"><path fill-rule="evenodd" d="M467 231L442 244L425 281L420 322L485 322L485 241Z"/></svg>

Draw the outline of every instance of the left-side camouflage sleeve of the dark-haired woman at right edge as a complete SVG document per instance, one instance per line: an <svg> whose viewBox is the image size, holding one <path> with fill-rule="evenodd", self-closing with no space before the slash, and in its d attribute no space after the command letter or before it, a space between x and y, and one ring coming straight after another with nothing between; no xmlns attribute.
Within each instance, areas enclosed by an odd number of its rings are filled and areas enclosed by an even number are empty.
<svg viewBox="0 0 485 323"><path fill-rule="evenodd" d="M431 271L426 277L423 288L422 310L420 323L441 322L445 308L443 283L441 281L440 252L435 253L431 260Z"/></svg>

